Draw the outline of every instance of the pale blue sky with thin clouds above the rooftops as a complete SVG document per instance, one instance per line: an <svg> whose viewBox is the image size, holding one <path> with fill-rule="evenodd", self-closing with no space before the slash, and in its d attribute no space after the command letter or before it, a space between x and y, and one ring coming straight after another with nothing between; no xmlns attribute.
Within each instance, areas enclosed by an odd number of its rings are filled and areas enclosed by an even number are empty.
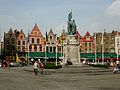
<svg viewBox="0 0 120 90"><path fill-rule="evenodd" d="M120 31L120 0L0 0L0 36L10 28L27 35L35 23L43 36L50 28L59 35L71 11L81 36Z"/></svg>

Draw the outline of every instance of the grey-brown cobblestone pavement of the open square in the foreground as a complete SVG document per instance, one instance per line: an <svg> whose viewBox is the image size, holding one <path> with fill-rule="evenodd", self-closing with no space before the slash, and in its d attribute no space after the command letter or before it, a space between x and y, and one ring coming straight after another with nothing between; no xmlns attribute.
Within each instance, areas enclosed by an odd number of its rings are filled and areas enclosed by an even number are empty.
<svg viewBox="0 0 120 90"><path fill-rule="evenodd" d="M35 76L33 67L0 68L0 90L120 90L120 74L90 66L44 70Z"/></svg>

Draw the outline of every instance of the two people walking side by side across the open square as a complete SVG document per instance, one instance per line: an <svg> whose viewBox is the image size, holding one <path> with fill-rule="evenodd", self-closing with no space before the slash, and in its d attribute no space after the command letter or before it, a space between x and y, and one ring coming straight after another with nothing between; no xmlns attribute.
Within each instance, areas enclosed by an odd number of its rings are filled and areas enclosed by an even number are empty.
<svg viewBox="0 0 120 90"><path fill-rule="evenodd" d="M43 74L43 68L44 68L44 64L42 60L39 61L34 61L34 73L37 76L38 75L38 70L40 69L41 74Z"/></svg>

